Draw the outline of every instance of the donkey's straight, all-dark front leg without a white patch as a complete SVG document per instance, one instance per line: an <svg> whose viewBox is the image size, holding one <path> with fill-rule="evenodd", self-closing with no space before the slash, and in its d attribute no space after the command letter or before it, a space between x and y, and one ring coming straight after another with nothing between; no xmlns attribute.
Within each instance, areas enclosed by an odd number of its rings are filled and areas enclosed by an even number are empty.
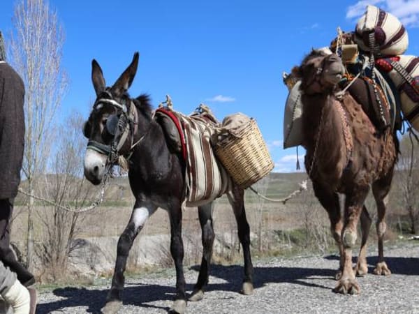
<svg viewBox="0 0 419 314"><path fill-rule="evenodd" d="M170 313L183 314L186 310L185 276L183 272L184 246L182 241L182 208L175 206L169 210L170 253L176 268L176 297Z"/></svg>

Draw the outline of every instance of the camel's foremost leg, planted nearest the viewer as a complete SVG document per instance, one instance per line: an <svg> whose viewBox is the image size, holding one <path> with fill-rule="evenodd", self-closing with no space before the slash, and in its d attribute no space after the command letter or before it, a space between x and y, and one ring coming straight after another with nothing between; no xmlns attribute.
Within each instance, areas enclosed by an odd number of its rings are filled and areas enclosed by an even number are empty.
<svg viewBox="0 0 419 314"><path fill-rule="evenodd" d="M357 232L356 227L362 212L362 207L367 197L369 187L359 187L352 193L346 194L344 230L342 230L341 241L344 245L344 269L342 276L337 282L335 292L358 294L360 286L355 280L355 272L352 268L352 248L355 245Z"/></svg>

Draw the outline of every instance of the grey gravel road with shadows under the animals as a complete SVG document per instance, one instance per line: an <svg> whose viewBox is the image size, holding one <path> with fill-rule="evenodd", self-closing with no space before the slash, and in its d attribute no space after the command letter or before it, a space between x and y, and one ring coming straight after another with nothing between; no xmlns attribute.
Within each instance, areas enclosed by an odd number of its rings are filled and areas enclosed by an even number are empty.
<svg viewBox="0 0 419 314"><path fill-rule="evenodd" d="M392 271L388 277L372 274L376 252L369 256L369 274L358 278L361 293L356 296L332 292L339 263L335 255L255 262L251 296L237 293L242 267L214 266L204 299L189 302L186 313L419 313L419 241L385 250ZM185 276L191 292L198 276L196 267L185 269ZM100 313L109 286L110 281L101 287L40 294L36 313ZM172 270L128 278L119 313L167 313L174 292Z"/></svg>

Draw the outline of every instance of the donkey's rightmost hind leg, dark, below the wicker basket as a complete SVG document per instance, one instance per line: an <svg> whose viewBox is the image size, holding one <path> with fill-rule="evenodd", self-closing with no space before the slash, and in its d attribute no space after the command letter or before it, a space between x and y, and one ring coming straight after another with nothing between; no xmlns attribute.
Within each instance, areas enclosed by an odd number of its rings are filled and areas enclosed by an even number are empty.
<svg viewBox="0 0 419 314"><path fill-rule="evenodd" d="M244 279L242 286L243 294L253 293L253 264L250 255L250 227L247 223L246 211L244 210L244 190L238 186L233 186L230 193L227 194L228 200L233 207L234 215L237 221L237 231L240 244L243 248L244 257Z"/></svg>

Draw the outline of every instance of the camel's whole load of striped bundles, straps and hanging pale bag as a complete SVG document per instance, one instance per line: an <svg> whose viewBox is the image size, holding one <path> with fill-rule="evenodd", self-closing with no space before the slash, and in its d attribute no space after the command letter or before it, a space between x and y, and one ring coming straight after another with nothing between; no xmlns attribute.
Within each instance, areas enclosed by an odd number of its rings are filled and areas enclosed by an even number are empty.
<svg viewBox="0 0 419 314"><path fill-rule="evenodd" d="M402 121L419 130L419 58L404 55L408 45L408 33L399 19L376 6L367 6L355 31L338 29L337 38L330 44L330 53L338 54L348 71L340 83L342 87L357 79L372 85L373 97L369 98L378 102L368 101L370 107L363 108L378 130L399 130ZM289 91L284 112L284 149L302 143L301 91L293 81L295 75L284 76ZM348 92L352 94L356 86L353 84ZM390 105L390 117L382 114L385 110L379 100L381 94Z"/></svg>

